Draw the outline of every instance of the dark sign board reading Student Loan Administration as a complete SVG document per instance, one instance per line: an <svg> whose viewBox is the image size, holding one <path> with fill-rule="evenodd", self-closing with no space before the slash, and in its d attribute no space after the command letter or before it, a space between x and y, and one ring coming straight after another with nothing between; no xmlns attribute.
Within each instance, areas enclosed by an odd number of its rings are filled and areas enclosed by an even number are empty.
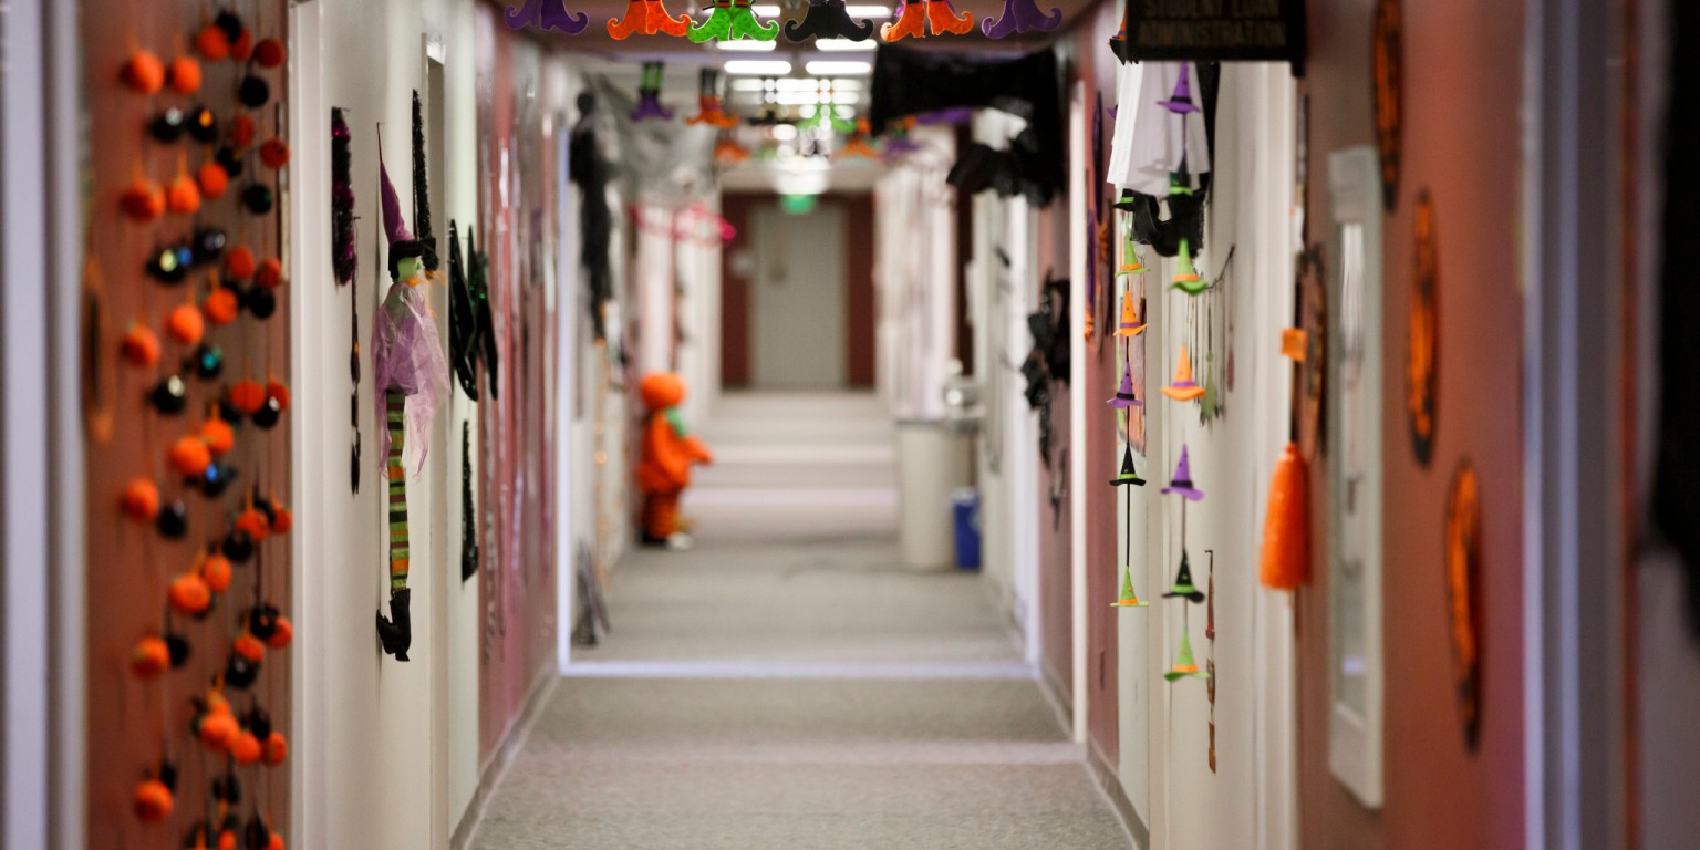
<svg viewBox="0 0 1700 850"><path fill-rule="evenodd" d="M1289 61L1304 76L1304 0L1124 0L1132 61Z"/></svg>

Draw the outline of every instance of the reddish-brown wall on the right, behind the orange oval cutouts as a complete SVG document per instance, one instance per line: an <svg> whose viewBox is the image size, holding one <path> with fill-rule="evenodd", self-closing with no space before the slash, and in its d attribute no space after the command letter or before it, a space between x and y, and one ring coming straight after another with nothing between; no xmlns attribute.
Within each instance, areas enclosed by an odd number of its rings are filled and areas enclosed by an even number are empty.
<svg viewBox="0 0 1700 850"><path fill-rule="evenodd" d="M1311 241L1326 243L1328 155L1370 144L1374 3L1309 3ZM1328 768L1328 459L1312 464L1316 581L1297 593L1300 818L1306 848L1520 847L1522 299L1516 265L1520 2L1404 3L1404 172L1387 216L1384 362L1386 806L1363 809ZM1404 418L1411 209L1435 201L1438 427L1418 466ZM1329 257L1328 260L1334 260ZM1324 452L1328 449L1324 447ZM1481 743L1455 706L1442 573L1447 488L1460 457L1482 486Z"/></svg>

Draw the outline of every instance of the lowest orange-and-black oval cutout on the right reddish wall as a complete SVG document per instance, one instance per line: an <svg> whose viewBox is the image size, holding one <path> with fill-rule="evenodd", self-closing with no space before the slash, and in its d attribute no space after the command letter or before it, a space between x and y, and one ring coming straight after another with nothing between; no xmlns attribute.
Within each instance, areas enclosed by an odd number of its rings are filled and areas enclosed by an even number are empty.
<svg viewBox="0 0 1700 850"><path fill-rule="evenodd" d="M1452 619L1452 672L1459 688L1464 745L1481 731L1481 484L1476 466L1459 461L1447 495L1447 610Z"/></svg>

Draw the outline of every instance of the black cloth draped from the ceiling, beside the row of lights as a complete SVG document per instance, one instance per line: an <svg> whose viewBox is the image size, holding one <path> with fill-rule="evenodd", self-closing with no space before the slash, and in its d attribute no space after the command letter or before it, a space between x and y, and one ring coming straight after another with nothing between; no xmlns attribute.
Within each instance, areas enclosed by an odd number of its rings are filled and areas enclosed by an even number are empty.
<svg viewBox="0 0 1700 850"><path fill-rule="evenodd" d="M870 82L869 129L903 116L954 107L988 107L1027 121L1034 170L1028 178L1056 199L1064 187L1062 92L1057 60L1040 49L1017 60L976 60L881 46Z"/></svg>

